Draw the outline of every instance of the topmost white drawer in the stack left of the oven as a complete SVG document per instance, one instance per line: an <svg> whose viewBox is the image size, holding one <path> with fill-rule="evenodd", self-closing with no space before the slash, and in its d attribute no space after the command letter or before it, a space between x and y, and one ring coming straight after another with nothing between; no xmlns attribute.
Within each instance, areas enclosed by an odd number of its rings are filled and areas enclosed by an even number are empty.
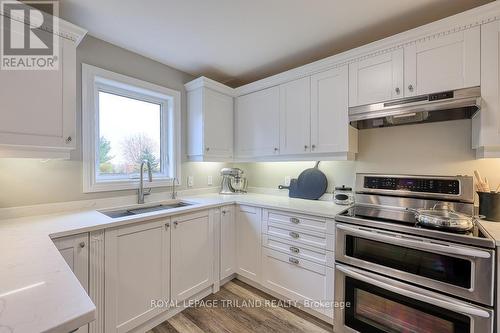
<svg viewBox="0 0 500 333"><path fill-rule="evenodd" d="M328 223L326 218L309 215L293 214L282 211L265 210L264 226L266 225L294 226L301 229L333 234L333 223Z"/></svg>

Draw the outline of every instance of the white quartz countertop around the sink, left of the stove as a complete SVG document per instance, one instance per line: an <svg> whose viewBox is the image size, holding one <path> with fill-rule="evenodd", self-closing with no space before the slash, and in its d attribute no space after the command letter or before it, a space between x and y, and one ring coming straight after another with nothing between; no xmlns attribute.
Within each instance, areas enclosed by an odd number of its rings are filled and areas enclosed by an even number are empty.
<svg viewBox="0 0 500 333"><path fill-rule="evenodd" d="M80 210L1 220L0 332L67 333L95 319L94 304L51 238L232 203L328 218L346 208L331 201L264 194L205 194L180 199L193 205L119 219L96 210ZM498 235L500 239L500 228Z"/></svg>

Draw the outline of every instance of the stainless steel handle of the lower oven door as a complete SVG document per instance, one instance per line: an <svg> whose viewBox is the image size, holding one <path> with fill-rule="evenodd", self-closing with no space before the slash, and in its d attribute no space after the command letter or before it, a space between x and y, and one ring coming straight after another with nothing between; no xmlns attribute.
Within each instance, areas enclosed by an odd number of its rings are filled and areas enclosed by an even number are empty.
<svg viewBox="0 0 500 333"><path fill-rule="evenodd" d="M422 295L415 293L413 291L409 291L406 289L401 289L399 287L392 286L390 284L384 283L382 281L378 281L375 279L372 279L370 277L364 276L363 274L357 273L352 269L349 269L345 266L342 265L335 265L335 268L344 273L347 276L350 276L356 280L360 280L362 282L366 282L368 284L374 285L376 287L392 291L396 294L406 296L408 298L415 299L417 301L425 302L428 304L432 304L438 307L441 307L443 309L447 309L453 312L460 312L465 315L469 316L476 316L476 317L481 317L481 318L490 318L490 314L487 311L465 305L463 303L458 303L458 302L453 302L453 301L445 301L441 299L437 299L434 297Z"/></svg>

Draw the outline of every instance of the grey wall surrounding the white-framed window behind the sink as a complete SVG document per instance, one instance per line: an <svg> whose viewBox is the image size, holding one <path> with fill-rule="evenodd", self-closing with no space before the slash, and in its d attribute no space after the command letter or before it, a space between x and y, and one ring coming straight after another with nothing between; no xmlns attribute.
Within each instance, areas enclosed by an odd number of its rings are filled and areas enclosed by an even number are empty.
<svg viewBox="0 0 500 333"><path fill-rule="evenodd" d="M86 36L77 49L77 150L71 160L0 159L0 208L52 203L72 200L122 196L134 191L82 193L81 152L81 64L86 63L132 76L182 92L182 123L186 121L186 93L184 83L193 79L191 75L165 66L151 59L129 52L92 36ZM186 131L183 128L183 147ZM183 154L184 156L184 154ZM206 187L207 177L219 182L220 163L182 164L185 184L188 175L195 176L195 188ZM168 188L156 191L168 191ZM166 194L167 195L167 194Z"/></svg>

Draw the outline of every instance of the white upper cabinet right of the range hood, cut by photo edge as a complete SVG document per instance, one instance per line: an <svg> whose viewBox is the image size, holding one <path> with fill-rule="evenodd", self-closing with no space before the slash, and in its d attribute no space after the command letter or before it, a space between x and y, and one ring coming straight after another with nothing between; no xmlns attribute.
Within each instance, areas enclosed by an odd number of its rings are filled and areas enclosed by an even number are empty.
<svg viewBox="0 0 500 333"><path fill-rule="evenodd" d="M481 27L481 110L472 119L477 158L500 157L500 23Z"/></svg>

